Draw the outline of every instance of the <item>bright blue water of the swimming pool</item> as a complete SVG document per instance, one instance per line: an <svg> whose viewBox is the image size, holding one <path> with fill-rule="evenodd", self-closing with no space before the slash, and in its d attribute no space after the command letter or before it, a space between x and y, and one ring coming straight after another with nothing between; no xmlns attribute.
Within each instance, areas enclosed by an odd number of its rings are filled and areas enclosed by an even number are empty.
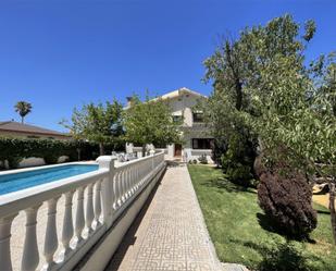
<svg viewBox="0 0 336 271"><path fill-rule="evenodd" d="M67 164L0 175L0 195L98 170L98 164Z"/></svg>

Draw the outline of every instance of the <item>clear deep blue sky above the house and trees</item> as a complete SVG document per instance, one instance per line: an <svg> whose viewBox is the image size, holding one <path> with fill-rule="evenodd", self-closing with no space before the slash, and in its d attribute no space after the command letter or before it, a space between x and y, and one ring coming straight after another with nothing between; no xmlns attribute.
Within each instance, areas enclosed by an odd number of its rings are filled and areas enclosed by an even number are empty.
<svg viewBox="0 0 336 271"><path fill-rule="evenodd" d="M336 50L334 0L0 1L0 121L33 103L27 123L63 131L73 108L188 87L210 94L202 61L221 35L290 13L313 19L308 58Z"/></svg>

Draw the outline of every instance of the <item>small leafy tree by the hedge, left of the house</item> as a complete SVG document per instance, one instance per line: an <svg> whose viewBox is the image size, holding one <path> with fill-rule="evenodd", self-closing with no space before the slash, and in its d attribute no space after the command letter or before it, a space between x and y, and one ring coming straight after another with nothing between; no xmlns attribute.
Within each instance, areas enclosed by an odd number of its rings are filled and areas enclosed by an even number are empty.
<svg viewBox="0 0 336 271"><path fill-rule="evenodd" d="M74 109L71 122L63 120L61 124L69 128L76 139L99 144L100 155L104 155L104 144L121 140L124 134L122 126L123 107L114 100L103 103L88 103L82 109Z"/></svg>

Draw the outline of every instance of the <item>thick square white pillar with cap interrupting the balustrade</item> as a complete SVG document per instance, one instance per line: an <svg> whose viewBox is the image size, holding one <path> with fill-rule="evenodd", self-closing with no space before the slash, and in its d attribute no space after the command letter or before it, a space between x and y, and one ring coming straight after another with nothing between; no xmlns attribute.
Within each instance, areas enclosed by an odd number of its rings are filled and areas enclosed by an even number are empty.
<svg viewBox="0 0 336 271"><path fill-rule="evenodd" d="M102 213L103 213L103 223L107 227L110 227L113 223L113 178L115 174L115 160L116 157L113 156L101 156L98 157L97 162L99 163L99 169L108 169L109 175L102 181L101 187L101 199L102 199Z"/></svg>

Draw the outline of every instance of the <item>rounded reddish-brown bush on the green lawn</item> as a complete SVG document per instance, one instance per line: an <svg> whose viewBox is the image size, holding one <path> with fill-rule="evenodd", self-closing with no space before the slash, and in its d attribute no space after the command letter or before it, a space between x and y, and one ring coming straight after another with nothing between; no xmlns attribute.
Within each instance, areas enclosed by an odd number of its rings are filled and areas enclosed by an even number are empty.
<svg viewBox="0 0 336 271"><path fill-rule="evenodd" d="M258 199L265 214L288 236L307 238L318 224L312 189L303 174L277 163L272 169L256 161Z"/></svg>

